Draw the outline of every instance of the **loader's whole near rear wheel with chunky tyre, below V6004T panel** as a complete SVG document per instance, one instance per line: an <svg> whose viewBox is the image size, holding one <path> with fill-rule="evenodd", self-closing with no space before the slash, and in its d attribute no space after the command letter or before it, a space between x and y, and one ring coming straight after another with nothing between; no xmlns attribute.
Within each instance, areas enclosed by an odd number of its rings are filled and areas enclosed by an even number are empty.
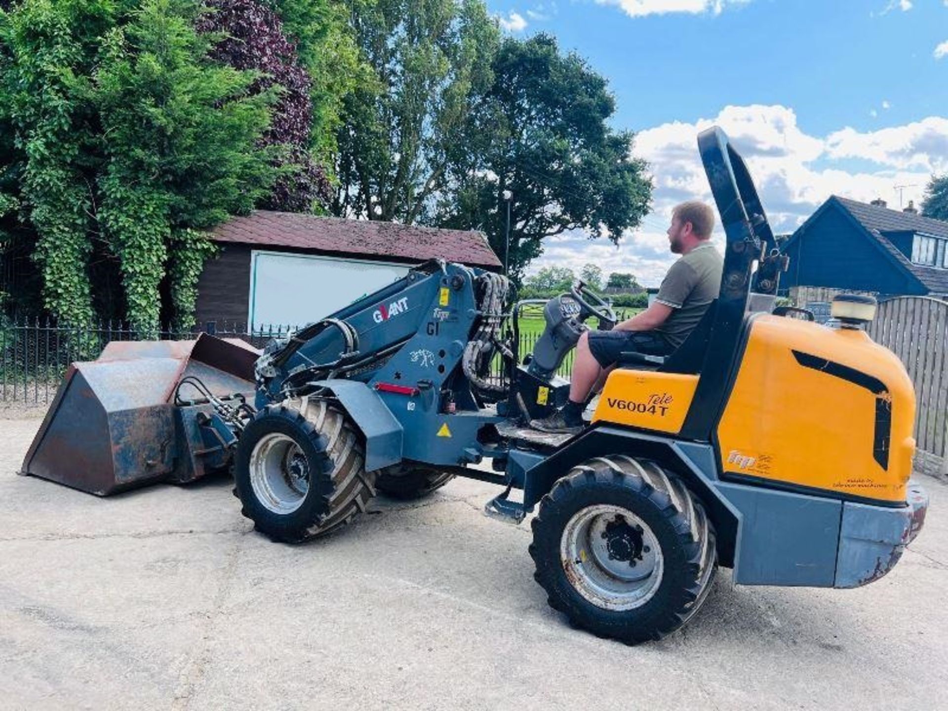
<svg viewBox="0 0 948 711"><path fill-rule="evenodd" d="M626 455L575 466L543 497L533 535L550 606L629 645L682 627L718 566L701 501L670 471Z"/></svg>

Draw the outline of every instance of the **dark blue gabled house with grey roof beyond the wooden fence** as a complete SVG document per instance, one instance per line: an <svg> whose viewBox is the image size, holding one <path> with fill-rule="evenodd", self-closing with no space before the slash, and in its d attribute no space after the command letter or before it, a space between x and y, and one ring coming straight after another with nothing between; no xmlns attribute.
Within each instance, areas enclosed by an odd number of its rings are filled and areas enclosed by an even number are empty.
<svg viewBox="0 0 948 711"><path fill-rule="evenodd" d="M833 195L783 247L790 269L780 280L798 303L829 301L838 291L878 297L948 296L948 222L910 205L891 210Z"/></svg>

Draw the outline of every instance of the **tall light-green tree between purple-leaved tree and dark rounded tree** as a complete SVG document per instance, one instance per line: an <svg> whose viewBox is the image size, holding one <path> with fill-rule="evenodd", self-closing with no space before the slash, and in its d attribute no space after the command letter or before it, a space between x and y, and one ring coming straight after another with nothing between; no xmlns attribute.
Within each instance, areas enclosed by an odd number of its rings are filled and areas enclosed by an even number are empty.
<svg viewBox="0 0 948 711"><path fill-rule="evenodd" d="M349 0L371 76L343 102L337 135L342 216L412 223L449 187L468 116L491 84L500 33L483 0Z"/></svg>

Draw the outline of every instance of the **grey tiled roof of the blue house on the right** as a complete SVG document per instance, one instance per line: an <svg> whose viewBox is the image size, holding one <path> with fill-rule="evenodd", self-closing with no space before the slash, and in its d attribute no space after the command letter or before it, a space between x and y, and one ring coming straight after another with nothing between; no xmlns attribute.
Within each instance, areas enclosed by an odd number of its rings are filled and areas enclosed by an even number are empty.
<svg viewBox="0 0 948 711"><path fill-rule="evenodd" d="M886 237L885 233L893 232L922 232L934 237L948 239L948 222L935 220L931 217L922 217L912 212L902 212L902 210L890 210L878 205L867 205L856 200L850 200L848 197L830 196L818 210L813 212L810 218L794 233L788 241L784 250L795 240L797 240L807 228L815 222L825 210L830 207L837 207L843 210L848 217L860 228L863 228L866 235L878 246L889 259L889 261L898 269L906 272L910 277L918 280L926 289L931 292L944 294L948 293L948 269L940 269L934 266L923 266L913 264L899 247L893 245Z"/></svg>

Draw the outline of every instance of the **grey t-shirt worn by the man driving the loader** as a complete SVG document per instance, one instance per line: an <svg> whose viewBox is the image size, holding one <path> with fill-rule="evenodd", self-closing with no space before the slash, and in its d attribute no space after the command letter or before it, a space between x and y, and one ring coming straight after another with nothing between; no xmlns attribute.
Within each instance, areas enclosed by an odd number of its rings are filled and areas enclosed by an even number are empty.
<svg viewBox="0 0 948 711"><path fill-rule="evenodd" d="M674 310L655 332L662 334L671 346L682 345L704 316L708 304L718 298L723 268L724 261L718 250L704 244L696 246L668 269L655 301Z"/></svg>

